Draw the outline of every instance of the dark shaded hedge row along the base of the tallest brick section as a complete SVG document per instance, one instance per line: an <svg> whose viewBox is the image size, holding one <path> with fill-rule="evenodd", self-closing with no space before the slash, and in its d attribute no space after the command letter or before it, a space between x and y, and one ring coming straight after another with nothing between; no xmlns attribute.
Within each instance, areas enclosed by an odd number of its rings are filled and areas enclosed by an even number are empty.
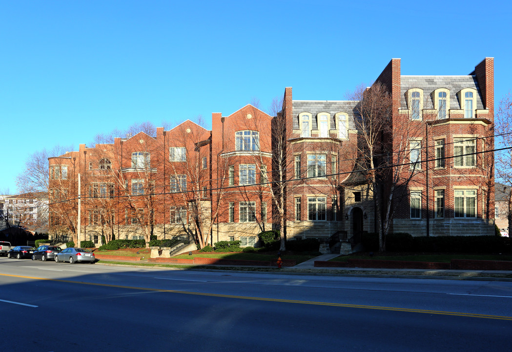
<svg viewBox="0 0 512 352"><path fill-rule="evenodd" d="M362 237L366 251L378 251L378 234ZM510 253L512 239L496 236L438 236L412 237L409 233L390 233L386 240L390 252L446 252L446 253Z"/></svg>

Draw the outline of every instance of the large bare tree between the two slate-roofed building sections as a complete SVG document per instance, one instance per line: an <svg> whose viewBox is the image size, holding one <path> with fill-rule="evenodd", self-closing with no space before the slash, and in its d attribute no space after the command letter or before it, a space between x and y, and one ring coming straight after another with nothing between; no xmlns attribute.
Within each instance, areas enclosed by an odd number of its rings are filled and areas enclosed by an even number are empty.
<svg viewBox="0 0 512 352"><path fill-rule="evenodd" d="M367 168L375 198L379 250L386 250L386 237L395 211L409 194L410 183L421 182L421 145L426 140L425 121L412 121L410 113L393 113L391 94L379 82L356 89L351 101L359 132L358 155Z"/></svg>

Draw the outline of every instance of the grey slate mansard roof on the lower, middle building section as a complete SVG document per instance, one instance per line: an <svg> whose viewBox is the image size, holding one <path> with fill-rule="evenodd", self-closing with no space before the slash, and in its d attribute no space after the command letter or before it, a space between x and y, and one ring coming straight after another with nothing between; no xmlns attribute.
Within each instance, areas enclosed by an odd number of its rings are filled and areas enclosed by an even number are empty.
<svg viewBox="0 0 512 352"><path fill-rule="evenodd" d="M331 129L335 129L334 114L346 112L349 116L348 129L355 129L353 108L357 102L351 101L330 101L330 100L294 100L292 101L293 129L300 129L298 126L298 114L309 112L313 115L311 129L318 129L316 125L316 115L319 112L328 112L331 114Z"/></svg>

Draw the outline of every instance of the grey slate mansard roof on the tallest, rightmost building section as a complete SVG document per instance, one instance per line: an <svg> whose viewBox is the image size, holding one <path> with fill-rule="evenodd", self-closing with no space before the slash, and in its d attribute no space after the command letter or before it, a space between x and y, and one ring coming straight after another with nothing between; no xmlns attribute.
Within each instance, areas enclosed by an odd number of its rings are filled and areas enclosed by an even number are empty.
<svg viewBox="0 0 512 352"><path fill-rule="evenodd" d="M400 106L402 109L408 108L406 92L411 88L423 90L423 108L425 109L434 107L431 93L438 88L450 89L450 109L463 109L457 93L464 88L473 88L478 91L476 108L485 109L476 76L400 76L400 83Z"/></svg>

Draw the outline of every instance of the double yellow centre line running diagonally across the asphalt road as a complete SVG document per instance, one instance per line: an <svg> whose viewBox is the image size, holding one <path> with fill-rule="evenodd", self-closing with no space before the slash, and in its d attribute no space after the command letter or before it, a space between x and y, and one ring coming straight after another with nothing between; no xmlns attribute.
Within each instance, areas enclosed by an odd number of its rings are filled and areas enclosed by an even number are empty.
<svg viewBox="0 0 512 352"><path fill-rule="evenodd" d="M330 306L330 307L343 307L343 308L391 310L391 311L403 311L403 312L410 312L410 313L436 314L436 315L444 315L444 316L498 319L498 320L512 321L512 317L492 316L492 315L486 315L486 314L461 313L461 312L455 312L455 311L395 308L395 307L381 307L381 306L359 305L359 304L327 303L327 302L314 302L314 301L282 300L282 299L277 299L277 298L259 298L259 297L233 296L233 295L204 294L204 293L200 293L200 292L164 290L164 289L158 289L158 288L121 286L121 285L110 285L110 284L97 284L97 283L92 283L92 282L81 282L81 281L60 280L60 279L45 279L45 278L35 278L35 277L31 277L31 276L9 275L9 274L2 274L2 273L0 273L0 276L8 276L8 277L13 277L13 278L32 279L32 280L66 282L66 283L72 283L72 284L82 284L82 285L92 285L92 286L127 288L127 289L144 290L144 291L169 292L169 293L173 293L173 294L234 298L234 299L242 299L242 300L280 302L280 303L312 304L312 305L324 305L324 306Z"/></svg>

